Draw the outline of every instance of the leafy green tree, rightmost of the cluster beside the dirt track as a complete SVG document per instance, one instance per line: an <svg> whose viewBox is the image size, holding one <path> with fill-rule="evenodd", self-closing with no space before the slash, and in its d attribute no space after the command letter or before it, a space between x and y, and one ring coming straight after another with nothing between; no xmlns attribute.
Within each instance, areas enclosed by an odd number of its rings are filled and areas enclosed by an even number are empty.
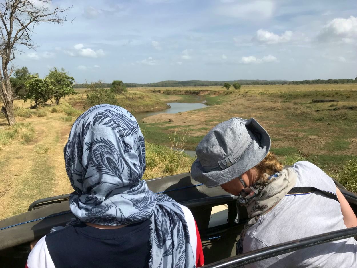
<svg viewBox="0 0 357 268"><path fill-rule="evenodd" d="M69 76L64 68L62 68L60 71L57 68L54 68L53 70L51 69L50 73L46 76L46 78L51 81L51 84L54 88L53 97L55 98L56 105L60 103L61 98L77 94L76 91L73 89L73 86L75 84L74 78L72 76Z"/></svg>

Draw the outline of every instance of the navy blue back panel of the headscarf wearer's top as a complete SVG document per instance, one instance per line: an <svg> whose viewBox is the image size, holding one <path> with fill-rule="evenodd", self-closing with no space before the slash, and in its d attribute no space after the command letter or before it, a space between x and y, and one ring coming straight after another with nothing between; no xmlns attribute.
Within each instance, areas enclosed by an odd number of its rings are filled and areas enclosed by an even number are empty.
<svg viewBox="0 0 357 268"><path fill-rule="evenodd" d="M56 268L143 268L149 267L150 223L145 220L118 229L74 225L45 239Z"/></svg>

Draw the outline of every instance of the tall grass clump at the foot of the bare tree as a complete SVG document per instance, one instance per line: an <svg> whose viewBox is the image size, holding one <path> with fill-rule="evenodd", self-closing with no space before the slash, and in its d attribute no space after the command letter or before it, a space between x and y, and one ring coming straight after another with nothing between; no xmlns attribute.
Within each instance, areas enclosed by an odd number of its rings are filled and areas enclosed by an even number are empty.
<svg viewBox="0 0 357 268"><path fill-rule="evenodd" d="M8 145L15 139L24 143L32 142L35 139L35 128L31 123L16 123L7 130L0 131L0 145Z"/></svg>

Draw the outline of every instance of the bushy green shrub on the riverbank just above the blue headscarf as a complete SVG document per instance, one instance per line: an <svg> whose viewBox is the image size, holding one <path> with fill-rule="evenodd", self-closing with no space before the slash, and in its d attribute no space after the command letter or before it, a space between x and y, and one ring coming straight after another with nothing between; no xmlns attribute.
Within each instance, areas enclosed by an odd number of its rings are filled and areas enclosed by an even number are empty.
<svg viewBox="0 0 357 268"><path fill-rule="evenodd" d="M117 94L115 94L111 89L103 88L100 81L91 82L90 84L86 84L86 86L87 99L84 104L85 109L104 103L119 105L116 98Z"/></svg>

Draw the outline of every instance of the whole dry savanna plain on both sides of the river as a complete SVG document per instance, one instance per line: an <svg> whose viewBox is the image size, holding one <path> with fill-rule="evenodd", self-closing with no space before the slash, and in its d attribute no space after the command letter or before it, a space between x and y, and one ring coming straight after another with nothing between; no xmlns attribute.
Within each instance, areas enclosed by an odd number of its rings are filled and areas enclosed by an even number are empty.
<svg viewBox="0 0 357 268"><path fill-rule="evenodd" d="M17 123L12 127L0 116L0 219L25 212L36 199L72 191L63 147L71 125L85 110L85 92L78 91L60 105L37 110L15 100ZM309 160L357 192L357 84L133 88L118 96L119 104L134 115L166 109L170 102L197 101L208 106L139 120L147 142L145 179L189 171L194 159L169 148L172 133L185 137L187 149L195 149L216 124L252 117L268 131L271 150L285 164Z"/></svg>

